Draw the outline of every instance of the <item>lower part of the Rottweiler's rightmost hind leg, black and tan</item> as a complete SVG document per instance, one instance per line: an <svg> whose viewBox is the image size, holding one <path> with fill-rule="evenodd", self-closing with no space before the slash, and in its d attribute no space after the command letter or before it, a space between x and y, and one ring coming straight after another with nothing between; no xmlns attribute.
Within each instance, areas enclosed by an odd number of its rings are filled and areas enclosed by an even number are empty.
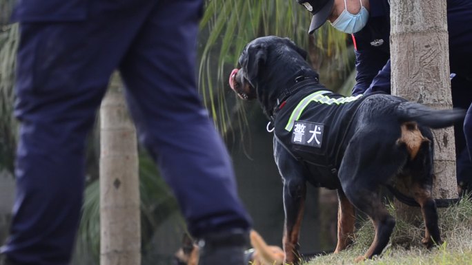
<svg viewBox="0 0 472 265"><path fill-rule="evenodd" d="M421 213L424 220L424 238L422 243L426 247L434 244L442 244L440 232L437 226L437 212L434 206L434 200L429 189L424 189L421 184L413 183L413 196L421 206Z"/></svg>

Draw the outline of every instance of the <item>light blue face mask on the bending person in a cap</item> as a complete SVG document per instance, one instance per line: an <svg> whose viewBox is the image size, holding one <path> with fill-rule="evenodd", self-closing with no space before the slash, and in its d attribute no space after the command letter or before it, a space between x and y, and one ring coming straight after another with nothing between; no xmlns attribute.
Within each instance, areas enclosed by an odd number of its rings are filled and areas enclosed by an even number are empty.
<svg viewBox="0 0 472 265"><path fill-rule="evenodd" d="M361 1L361 10L357 14L351 14L347 10L346 0L344 0L344 11L340 14L340 17L337 17L331 25L337 30L352 34L358 32L364 28L368 21L368 11L364 6L362 6Z"/></svg>

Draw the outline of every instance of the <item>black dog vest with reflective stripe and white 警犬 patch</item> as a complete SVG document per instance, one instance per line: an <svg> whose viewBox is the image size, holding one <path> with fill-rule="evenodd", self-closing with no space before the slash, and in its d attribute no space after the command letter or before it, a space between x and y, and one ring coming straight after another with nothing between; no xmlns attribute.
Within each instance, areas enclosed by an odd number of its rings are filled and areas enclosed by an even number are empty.
<svg viewBox="0 0 472 265"><path fill-rule="evenodd" d="M346 135L364 96L304 89L275 117L275 137L298 160L337 176Z"/></svg>

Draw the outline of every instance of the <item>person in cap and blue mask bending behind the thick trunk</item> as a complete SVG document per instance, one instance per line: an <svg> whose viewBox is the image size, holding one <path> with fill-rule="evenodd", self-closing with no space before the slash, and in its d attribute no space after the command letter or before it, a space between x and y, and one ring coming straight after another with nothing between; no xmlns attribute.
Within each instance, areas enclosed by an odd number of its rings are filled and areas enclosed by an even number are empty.
<svg viewBox="0 0 472 265"><path fill-rule="evenodd" d="M337 30L352 34L357 70L354 96L380 91L390 94L389 0L297 2L313 14L309 34L326 21ZM447 23L453 107L468 109L470 106L464 127L454 127L457 180L463 194L472 191L472 1L447 0Z"/></svg>

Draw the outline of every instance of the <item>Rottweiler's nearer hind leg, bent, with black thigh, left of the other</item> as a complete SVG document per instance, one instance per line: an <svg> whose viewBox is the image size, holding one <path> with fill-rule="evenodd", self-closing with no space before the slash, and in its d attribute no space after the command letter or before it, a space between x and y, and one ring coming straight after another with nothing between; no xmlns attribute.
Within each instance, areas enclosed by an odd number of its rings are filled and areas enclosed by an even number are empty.
<svg viewBox="0 0 472 265"><path fill-rule="evenodd" d="M380 255L395 226L395 219L386 211L379 190L406 162L406 154L398 149L394 140L389 140L397 138L399 132L362 131L351 138L344 152L338 173L342 189L348 200L368 215L375 229L371 246L357 261Z"/></svg>

